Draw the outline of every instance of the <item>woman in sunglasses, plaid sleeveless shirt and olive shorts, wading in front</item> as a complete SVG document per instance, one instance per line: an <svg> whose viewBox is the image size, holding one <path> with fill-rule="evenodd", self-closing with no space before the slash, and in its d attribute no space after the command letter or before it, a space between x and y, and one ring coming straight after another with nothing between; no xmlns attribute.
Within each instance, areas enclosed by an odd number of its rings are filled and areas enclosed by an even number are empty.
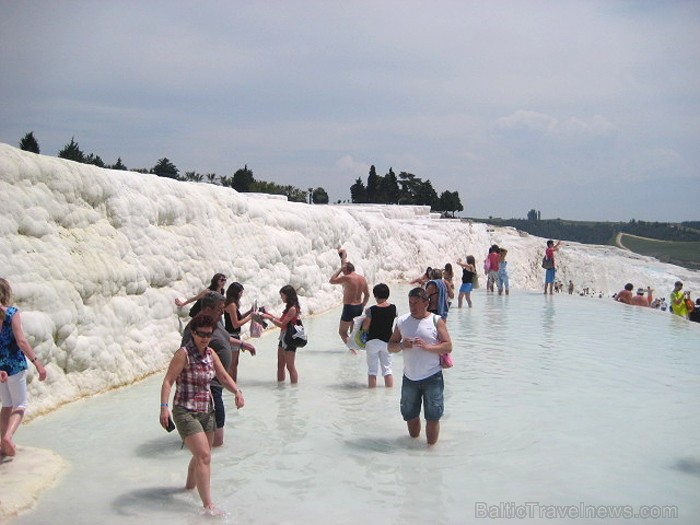
<svg viewBox="0 0 700 525"><path fill-rule="evenodd" d="M214 506L211 498L211 448L216 426L214 404L209 391L211 380L216 377L227 390L235 394L236 408L242 408L245 402L243 393L226 372L219 356L209 348L217 322L217 319L204 314L192 319L192 340L175 352L163 379L160 390L160 424L163 428L168 428L172 417L180 437L192 453L185 488L197 489L207 513L221 515L223 512ZM168 401L173 383L176 387L171 414Z"/></svg>

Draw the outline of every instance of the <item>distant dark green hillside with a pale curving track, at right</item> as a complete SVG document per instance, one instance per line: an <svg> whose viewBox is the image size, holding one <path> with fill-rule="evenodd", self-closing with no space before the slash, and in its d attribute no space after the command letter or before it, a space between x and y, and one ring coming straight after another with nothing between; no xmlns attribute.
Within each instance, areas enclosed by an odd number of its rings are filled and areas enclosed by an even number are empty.
<svg viewBox="0 0 700 525"><path fill-rule="evenodd" d="M530 220L472 218L494 226L512 226L547 239L620 246L641 255L700 269L700 221L668 222L594 222L564 219Z"/></svg>

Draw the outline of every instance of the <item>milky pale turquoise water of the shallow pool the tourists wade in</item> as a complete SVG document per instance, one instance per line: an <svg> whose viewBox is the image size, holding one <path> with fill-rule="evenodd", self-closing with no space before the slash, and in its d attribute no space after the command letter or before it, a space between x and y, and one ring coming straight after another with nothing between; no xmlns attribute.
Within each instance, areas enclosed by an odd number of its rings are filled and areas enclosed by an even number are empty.
<svg viewBox="0 0 700 525"><path fill-rule="evenodd" d="M408 287L392 290L406 312ZM450 312L456 364L445 372L440 441L429 448L406 434L400 386L366 388L364 354L342 349L338 316L306 320L297 387L275 380L276 334L256 341L258 356L243 356L246 407L229 410L213 457L214 501L229 512L218 521L513 523L509 509L537 503L536 513L663 505L678 518L645 523L697 522L700 324L610 299L479 291L473 309ZM401 368L398 356L397 385ZM161 381L25 425L18 442L56 450L71 467L10 523L210 522L180 490L189 453L158 426ZM492 519L477 519L483 508ZM524 521L542 521L534 516Z"/></svg>

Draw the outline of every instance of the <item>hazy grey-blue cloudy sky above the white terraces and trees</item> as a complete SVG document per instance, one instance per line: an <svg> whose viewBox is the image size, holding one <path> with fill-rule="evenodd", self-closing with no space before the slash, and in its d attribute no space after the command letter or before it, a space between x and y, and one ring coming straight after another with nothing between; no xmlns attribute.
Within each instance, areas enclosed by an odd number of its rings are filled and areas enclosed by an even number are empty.
<svg viewBox="0 0 700 525"><path fill-rule="evenodd" d="M700 2L0 0L0 142L462 216L700 220Z"/></svg>

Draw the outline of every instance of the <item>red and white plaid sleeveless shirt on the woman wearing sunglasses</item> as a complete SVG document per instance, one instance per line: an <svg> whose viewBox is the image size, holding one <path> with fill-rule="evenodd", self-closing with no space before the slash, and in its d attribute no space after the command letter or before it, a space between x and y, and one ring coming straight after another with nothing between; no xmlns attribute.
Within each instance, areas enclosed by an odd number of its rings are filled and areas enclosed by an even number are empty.
<svg viewBox="0 0 700 525"><path fill-rule="evenodd" d="M209 383L215 375L211 348L207 347L204 355L191 341L183 348L187 352L187 366L175 381L173 404L193 412L209 412L213 405Z"/></svg>

